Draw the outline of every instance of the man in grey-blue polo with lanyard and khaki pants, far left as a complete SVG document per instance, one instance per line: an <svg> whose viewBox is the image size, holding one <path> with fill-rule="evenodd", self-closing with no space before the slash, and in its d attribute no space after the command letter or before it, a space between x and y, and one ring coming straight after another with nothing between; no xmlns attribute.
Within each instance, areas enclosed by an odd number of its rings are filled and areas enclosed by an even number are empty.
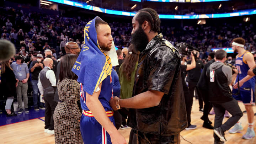
<svg viewBox="0 0 256 144"><path fill-rule="evenodd" d="M30 76L28 66L23 63L24 59L21 55L15 57L16 62L11 64L11 68L14 71L15 78L18 79L17 90L17 99L18 99L18 114L22 113L22 97L24 101L25 113L28 113L28 98L27 98L27 90L28 90L28 78Z"/></svg>

